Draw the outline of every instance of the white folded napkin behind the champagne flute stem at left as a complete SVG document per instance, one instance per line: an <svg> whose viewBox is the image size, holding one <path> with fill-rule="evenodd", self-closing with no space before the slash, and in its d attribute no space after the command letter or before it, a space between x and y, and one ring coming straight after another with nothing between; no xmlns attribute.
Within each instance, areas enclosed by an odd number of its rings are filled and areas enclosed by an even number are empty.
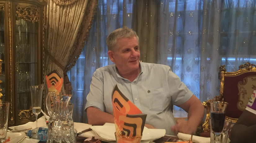
<svg viewBox="0 0 256 143"><path fill-rule="evenodd" d="M48 127L47 124L46 124L46 119L44 116L42 116L41 118L37 119L37 126L38 127ZM10 129L13 129L13 130L23 130L23 129L28 129L28 128L32 128L30 130L33 130L36 128L36 121L35 122L28 122L27 124L24 124L24 125L19 125L19 126L12 126L12 127L9 127ZM27 131L24 131L24 132L27 132Z"/></svg>

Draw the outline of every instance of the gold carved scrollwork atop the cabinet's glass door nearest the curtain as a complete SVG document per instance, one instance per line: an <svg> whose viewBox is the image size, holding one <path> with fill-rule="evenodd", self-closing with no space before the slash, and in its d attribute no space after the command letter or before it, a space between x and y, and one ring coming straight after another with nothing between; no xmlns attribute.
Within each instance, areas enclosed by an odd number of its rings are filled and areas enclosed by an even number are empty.
<svg viewBox="0 0 256 143"><path fill-rule="evenodd" d="M36 7L25 7L22 9L20 5L16 6L16 18L23 18L25 21L29 22L38 22L39 17L38 17L38 8Z"/></svg>

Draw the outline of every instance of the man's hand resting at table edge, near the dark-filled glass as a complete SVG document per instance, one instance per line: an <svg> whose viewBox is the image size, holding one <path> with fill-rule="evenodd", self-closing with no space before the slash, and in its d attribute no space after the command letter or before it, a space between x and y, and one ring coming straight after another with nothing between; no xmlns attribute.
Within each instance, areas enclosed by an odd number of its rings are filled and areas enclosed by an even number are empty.
<svg viewBox="0 0 256 143"><path fill-rule="evenodd" d="M178 120L177 124L171 127L171 130L175 134L186 133L192 135L195 133L196 128L193 125L189 125L188 121Z"/></svg>

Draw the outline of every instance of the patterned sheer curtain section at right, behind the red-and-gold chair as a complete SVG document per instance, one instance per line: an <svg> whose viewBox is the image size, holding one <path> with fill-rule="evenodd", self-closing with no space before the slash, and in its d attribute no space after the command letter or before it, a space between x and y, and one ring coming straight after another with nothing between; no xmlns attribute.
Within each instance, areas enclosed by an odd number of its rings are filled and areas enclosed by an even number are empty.
<svg viewBox="0 0 256 143"><path fill-rule="evenodd" d="M200 99L219 92L219 66L237 71L246 62L256 63L256 0L204 0L200 56Z"/></svg>

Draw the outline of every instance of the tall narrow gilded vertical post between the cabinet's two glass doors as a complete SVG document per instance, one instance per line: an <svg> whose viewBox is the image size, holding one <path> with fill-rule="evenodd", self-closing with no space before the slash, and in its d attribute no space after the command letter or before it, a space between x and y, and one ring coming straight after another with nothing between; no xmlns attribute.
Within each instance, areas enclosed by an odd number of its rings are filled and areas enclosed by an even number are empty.
<svg viewBox="0 0 256 143"><path fill-rule="evenodd" d="M10 119L9 119L9 124L14 125L14 119L13 119L13 110L12 110L12 61L11 61L11 2L7 2L7 9L8 9L8 38L9 38L9 55L10 55L10 60L9 60L9 65L10 65L10 76L9 76L9 82L10 82Z"/></svg>

